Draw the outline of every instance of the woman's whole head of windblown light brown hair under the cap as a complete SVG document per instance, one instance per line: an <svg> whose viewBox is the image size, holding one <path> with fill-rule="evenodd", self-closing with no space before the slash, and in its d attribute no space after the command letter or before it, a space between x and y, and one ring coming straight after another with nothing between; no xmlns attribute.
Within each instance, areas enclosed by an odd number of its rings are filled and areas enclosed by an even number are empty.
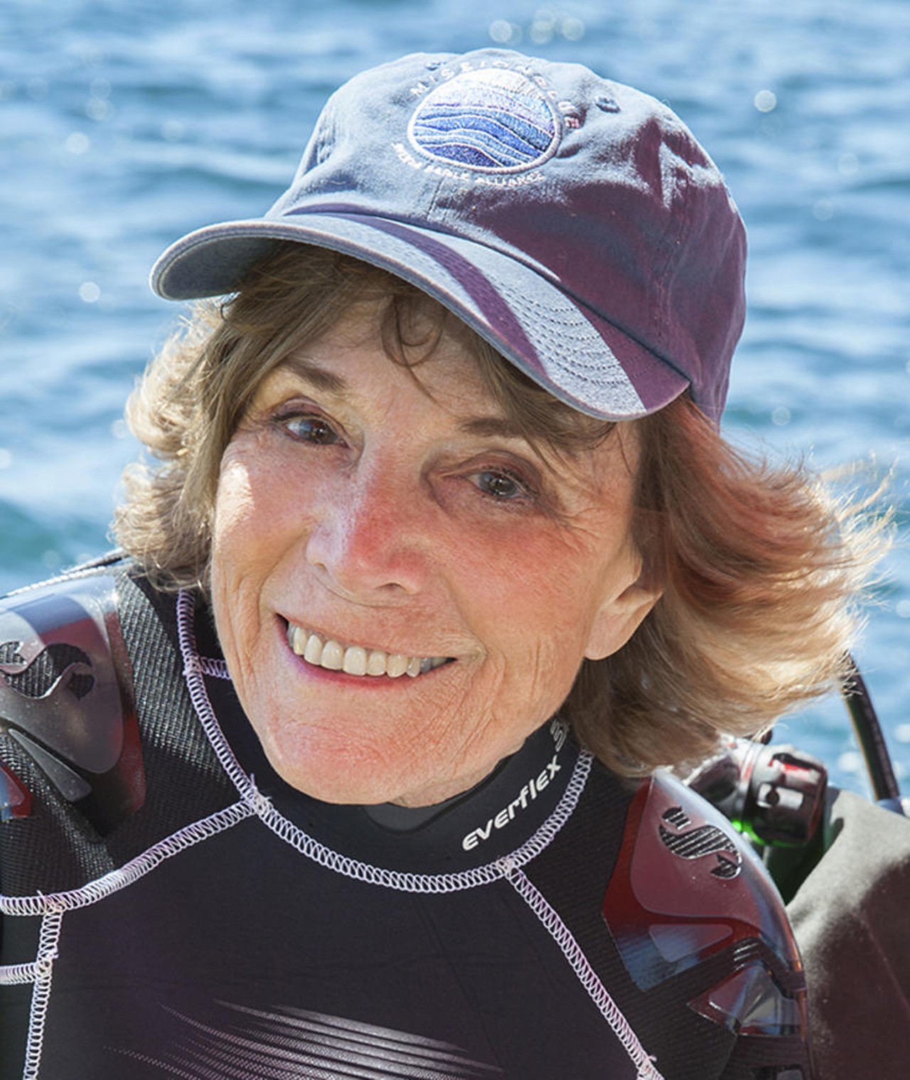
<svg viewBox="0 0 910 1080"><path fill-rule="evenodd" d="M402 280L277 244L235 296L196 306L127 406L158 460L127 469L114 531L158 588L207 589L221 456L259 383L367 300L384 305L385 351L418 381L421 360L457 324L531 445L571 451L609 437L613 424L558 402ZM802 467L737 451L688 396L633 422L633 539L644 580L663 594L622 649L583 662L562 708L580 742L627 774L698 761L721 733L756 734L842 680L881 546L881 530L848 501Z"/></svg>

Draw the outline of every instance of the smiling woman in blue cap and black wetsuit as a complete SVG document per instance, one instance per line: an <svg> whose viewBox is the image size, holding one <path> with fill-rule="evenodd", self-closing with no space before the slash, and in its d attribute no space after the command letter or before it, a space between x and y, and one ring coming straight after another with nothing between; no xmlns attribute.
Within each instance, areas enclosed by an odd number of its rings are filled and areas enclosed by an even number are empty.
<svg viewBox="0 0 910 1080"><path fill-rule="evenodd" d="M165 253L228 298L127 554L0 624L4 1076L811 1076L773 887L654 773L826 689L867 561L718 434L744 255L669 110L498 50Z"/></svg>

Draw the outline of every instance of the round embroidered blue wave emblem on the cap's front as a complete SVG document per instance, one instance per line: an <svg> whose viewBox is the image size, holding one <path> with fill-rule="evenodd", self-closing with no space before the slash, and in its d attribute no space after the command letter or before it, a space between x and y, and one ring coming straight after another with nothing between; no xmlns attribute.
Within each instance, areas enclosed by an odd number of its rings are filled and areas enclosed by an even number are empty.
<svg viewBox="0 0 910 1080"><path fill-rule="evenodd" d="M518 71L464 71L437 86L415 112L409 135L423 153L483 172L545 161L559 141L543 92Z"/></svg>

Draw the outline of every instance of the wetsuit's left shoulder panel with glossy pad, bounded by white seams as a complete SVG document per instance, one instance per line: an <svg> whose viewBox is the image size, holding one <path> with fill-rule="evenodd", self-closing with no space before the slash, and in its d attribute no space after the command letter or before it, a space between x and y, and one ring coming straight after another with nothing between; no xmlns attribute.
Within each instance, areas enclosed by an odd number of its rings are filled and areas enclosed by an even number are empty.
<svg viewBox="0 0 910 1080"><path fill-rule="evenodd" d="M117 553L0 598L5 894L81 888L228 797L174 610ZM178 760L192 797L173 797Z"/></svg>

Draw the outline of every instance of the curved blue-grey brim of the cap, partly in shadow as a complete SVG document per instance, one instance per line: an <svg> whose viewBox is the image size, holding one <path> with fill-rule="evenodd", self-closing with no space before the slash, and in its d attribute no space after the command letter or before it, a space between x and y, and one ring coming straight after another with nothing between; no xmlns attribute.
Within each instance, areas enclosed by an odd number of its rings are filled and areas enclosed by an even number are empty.
<svg viewBox="0 0 910 1080"><path fill-rule="evenodd" d="M520 257L433 229L355 213L229 221L191 232L152 268L152 288L188 300L235 292L275 241L351 255L434 297L515 366L573 408L629 420L689 381L634 338L582 308Z"/></svg>

